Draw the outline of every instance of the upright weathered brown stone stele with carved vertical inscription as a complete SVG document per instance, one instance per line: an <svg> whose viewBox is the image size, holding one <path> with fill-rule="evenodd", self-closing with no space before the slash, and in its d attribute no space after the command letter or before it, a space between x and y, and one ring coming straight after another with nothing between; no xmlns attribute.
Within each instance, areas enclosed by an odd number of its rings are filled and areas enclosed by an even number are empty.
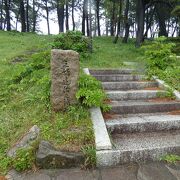
<svg viewBox="0 0 180 180"><path fill-rule="evenodd" d="M51 103L54 111L64 111L76 102L79 54L72 50L51 51Z"/></svg>

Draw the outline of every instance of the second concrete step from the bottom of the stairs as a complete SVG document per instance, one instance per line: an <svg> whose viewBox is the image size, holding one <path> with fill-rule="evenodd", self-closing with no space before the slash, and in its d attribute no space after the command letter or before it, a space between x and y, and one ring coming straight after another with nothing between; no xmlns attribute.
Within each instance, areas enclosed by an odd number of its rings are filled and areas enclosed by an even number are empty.
<svg viewBox="0 0 180 180"><path fill-rule="evenodd" d="M135 114L109 119L106 126L111 134L180 130L180 115Z"/></svg>

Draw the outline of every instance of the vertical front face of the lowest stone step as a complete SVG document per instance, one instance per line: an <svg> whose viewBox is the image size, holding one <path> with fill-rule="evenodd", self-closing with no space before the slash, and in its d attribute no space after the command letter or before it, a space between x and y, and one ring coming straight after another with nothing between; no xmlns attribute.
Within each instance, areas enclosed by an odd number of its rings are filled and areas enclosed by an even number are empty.
<svg viewBox="0 0 180 180"><path fill-rule="evenodd" d="M101 150L96 151L97 167L112 167L127 163L159 161L166 154L179 154L180 145L142 150ZM129 156L130 159L127 158ZM136 159L137 158L137 159Z"/></svg>

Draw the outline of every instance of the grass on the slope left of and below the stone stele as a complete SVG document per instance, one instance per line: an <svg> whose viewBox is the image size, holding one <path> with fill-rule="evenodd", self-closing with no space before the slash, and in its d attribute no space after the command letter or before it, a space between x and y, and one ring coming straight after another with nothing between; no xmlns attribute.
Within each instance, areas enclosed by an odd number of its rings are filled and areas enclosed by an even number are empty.
<svg viewBox="0 0 180 180"><path fill-rule="evenodd" d="M94 145L87 108L51 111L51 40L52 36L0 32L0 174L15 166L6 152L34 124L40 127L41 139L61 150L81 151Z"/></svg>

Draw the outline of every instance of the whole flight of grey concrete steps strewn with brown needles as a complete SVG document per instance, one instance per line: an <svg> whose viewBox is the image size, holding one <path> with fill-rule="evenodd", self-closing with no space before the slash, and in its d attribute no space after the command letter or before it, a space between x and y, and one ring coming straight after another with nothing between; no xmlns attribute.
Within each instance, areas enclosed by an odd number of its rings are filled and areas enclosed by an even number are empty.
<svg viewBox="0 0 180 180"><path fill-rule="evenodd" d="M160 98L166 91L131 69L90 70L90 74L102 81L112 106L104 119L113 149L99 154L106 157L102 166L180 154L180 101Z"/></svg>

